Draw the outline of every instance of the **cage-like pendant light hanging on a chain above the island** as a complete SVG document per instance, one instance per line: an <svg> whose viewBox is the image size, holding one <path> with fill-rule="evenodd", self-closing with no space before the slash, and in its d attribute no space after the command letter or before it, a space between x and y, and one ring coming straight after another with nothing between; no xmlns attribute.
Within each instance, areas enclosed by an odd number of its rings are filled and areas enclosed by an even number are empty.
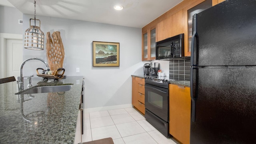
<svg viewBox="0 0 256 144"><path fill-rule="evenodd" d="M34 19L30 18L30 28L25 31L24 48L30 50L44 50L44 32L40 30L41 21L39 20L39 27L36 26L36 0L34 0ZM34 26L31 26L31 20L34 21Z"/></svg>

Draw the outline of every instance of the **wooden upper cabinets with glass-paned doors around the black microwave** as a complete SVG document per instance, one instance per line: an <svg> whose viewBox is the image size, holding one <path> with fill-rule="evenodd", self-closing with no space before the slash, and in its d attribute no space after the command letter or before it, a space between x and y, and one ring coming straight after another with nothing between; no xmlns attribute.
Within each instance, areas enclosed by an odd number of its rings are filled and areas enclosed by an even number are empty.
<svg viewBox="0 0 256 144"><path fill-rule="evenodd" d="M184 33L184 56L190 56L190 45L192 38L192 20L188 21L188 10L197 6L206 0L183 0L166 13L162 14L148 25L142 28L142 60L155 60L155 51L152 46L153 40L156 42ZM212 0L212 6L223 2L224 0ZM156 37L152 39L151 30L156 29Z"/></svg>

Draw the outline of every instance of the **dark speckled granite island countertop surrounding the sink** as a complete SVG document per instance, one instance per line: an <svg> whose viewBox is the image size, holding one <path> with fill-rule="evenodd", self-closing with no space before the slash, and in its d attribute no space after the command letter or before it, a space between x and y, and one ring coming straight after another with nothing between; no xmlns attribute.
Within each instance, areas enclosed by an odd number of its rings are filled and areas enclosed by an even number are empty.
<svg viewBox="0 0 256 144"><path fill-rule="evenodd" d="M45 83L33 77L33 86L74 85L66 92L32 95L15 94L17 82L0 84L0 144L73 144L82 80L82 76L70 76Z"/></svg>

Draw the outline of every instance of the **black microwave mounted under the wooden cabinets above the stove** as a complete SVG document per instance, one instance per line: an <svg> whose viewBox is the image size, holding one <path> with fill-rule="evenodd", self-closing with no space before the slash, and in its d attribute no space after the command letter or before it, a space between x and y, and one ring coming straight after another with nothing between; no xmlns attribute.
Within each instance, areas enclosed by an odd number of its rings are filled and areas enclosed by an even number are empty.
<svg viewBox="0 0 256 144"><path fill-rule="evenodd" d="M156 42L156 60L184 57L184 34Z"/></svg>

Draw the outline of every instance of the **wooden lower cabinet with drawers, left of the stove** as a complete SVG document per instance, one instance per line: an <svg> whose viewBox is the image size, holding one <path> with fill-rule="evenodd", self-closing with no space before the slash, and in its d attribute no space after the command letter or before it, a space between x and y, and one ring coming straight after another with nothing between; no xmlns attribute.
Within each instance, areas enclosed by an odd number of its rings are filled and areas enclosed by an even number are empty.
<svg viewBox="0 0 256 144"><path fill-rule="evenodd" d="M132 105L145 114L145 79L132 76Z"/></svg>

